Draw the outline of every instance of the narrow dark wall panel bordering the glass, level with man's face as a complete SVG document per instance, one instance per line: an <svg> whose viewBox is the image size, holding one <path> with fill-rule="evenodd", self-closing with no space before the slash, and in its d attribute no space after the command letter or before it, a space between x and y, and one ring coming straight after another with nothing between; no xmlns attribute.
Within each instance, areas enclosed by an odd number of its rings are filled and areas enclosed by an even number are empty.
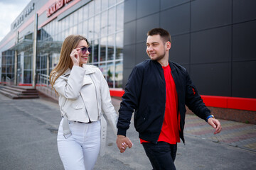
<svg viewBox="0 0 256 170"><path fill-rule="evenodd" d="M135 48L136 45L125 45L124 46L124 69L132 68L135 65Z"/></svg>

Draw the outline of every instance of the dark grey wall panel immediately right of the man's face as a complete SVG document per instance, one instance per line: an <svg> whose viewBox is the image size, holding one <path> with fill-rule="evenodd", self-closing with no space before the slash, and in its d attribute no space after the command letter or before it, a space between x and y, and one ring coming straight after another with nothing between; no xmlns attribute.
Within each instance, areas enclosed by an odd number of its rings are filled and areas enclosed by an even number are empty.
<svg viewBox="0 0 256 170"><path fill-rule="evenodd" d="M169 59L179 64L189 64L189 34L174 36L171 41Z"/></svg>

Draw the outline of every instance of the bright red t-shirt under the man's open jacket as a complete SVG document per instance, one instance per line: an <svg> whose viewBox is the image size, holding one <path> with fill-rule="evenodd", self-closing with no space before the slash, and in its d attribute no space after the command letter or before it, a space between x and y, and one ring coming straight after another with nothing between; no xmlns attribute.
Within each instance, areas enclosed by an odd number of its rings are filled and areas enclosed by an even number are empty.
<svg viewBox="0 0 256 170"><path fill-rule="evenodd" d="M161 128L158 141L176 144L181 142L178 133L180 124L180 115L178 114L178 96L174 78L171 75L171 67L166 66L164 69L164 79L166 81L166 108L164 113L164 122ZM140 139L140 142L147 142Z"/></svg>

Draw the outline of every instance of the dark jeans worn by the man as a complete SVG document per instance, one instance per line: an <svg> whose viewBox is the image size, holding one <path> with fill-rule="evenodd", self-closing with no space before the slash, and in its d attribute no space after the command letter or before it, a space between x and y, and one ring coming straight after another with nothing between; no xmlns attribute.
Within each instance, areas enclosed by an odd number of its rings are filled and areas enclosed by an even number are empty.
<svg viewBox="0 0 256 170"><path fill-rule="evenodd" d="M177 145L171 145L166 142L142 143L146 156L154 170L176 170L174 160L177 152Z"/></svg>

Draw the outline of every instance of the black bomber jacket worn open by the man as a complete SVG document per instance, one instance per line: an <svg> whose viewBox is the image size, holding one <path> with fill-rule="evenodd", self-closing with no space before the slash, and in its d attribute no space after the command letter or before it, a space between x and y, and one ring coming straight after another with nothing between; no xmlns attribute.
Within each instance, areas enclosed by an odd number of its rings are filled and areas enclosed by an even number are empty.
<svg viewBox="0 0 256 170"><path fill-rule="evenodd" d="M185 143L183 137L185 105L199 118L206 121L210 110L203 103L186 69L171 61L169 61L169 66L178 95L178 113L181 116L179 135ZM164 121L165 104L166 84L161 64L150 59L137 64L129 75L122 96L117 135L126 135L134 112L134 126L139 132L139 138L156 143Z"/></svg>

